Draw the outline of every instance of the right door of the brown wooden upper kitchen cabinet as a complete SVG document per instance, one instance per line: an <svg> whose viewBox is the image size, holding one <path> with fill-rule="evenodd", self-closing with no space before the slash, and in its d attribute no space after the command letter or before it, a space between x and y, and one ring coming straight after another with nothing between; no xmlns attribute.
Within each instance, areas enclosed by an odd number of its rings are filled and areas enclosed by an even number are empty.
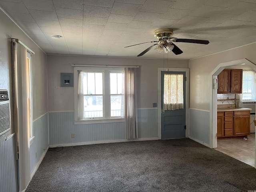
<svg viewBox="0 0 256 192"><path fill-rule="evenodd" d="M242 79L243 79L242 69L231 70L230 93L242 93Z"/></svg>

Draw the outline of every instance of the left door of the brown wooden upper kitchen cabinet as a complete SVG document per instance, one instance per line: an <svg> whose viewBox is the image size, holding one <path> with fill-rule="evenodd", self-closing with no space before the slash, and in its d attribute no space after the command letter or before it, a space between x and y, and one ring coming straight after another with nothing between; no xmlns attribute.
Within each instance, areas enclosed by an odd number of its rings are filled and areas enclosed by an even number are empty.
<svg viewBox="0 0 256 192"><path fill-rule="evenodd" d="M218 75L218 93L230 93L230 69L224 69Z"/></svg>

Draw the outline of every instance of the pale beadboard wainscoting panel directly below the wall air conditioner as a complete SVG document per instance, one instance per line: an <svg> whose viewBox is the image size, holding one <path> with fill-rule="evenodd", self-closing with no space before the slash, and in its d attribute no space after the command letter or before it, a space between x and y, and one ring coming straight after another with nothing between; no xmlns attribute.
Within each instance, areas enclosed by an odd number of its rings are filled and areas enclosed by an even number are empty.
<svg viewBox="0 0 256 192"><path fill-rule="evenodd" d="M7 141L0 142L0 191L16 192L17 176L16 176L16 156L14 136Z"/></svg>

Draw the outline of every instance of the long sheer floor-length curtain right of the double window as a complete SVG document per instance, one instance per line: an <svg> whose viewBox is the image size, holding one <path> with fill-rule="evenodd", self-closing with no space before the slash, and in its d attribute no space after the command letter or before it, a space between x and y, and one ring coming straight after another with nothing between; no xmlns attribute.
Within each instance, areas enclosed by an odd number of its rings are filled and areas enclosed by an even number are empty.
<svg viewBox="0 0 256 192"><path fill-rule="evenodd" d="M124 68L124 72L126 139L135 139L138 138L137 68Z"/></svg>

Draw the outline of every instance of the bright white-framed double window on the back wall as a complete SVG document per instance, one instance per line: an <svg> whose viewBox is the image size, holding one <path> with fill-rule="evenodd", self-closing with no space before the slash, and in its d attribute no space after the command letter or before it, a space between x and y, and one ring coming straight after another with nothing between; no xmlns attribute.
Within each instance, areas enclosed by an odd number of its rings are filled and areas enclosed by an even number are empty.
<svg viewBox="0 0 256 192"><path fill-rule="evenodd" d="M74 78L75 120L124 118L123 68L75 67Z"/></svg>

